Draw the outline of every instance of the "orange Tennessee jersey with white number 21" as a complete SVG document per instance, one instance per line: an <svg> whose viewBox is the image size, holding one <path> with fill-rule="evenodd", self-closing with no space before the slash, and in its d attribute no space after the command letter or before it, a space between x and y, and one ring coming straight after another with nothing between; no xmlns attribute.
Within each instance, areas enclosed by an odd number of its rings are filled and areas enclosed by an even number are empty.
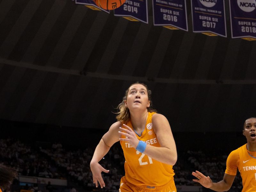
<svg viewBox="0 0 256 192"><path fill-rule="evenodd" d="M147 145L160 147L152 125L153 114L155 113L148 112L144 131L141 136L136 135L139 140L145 141ZM131 121L128 121L127 125L133 130ZM124 126L123 128L125 129ZM125 138L125 136L122 135L122 138ZM124 151L125 178L128 182L144 188L147 186L163 186L173 180L172 165L161 163L143 153L141 154L126 141L120 141L120 143Z"/></svg>

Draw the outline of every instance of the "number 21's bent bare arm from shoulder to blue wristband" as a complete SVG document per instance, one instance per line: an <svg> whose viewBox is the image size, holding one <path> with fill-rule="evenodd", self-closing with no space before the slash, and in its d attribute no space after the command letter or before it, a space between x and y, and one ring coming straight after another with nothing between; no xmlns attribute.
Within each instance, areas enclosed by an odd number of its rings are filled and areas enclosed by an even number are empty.
<svg viewBox="0 0 256 192"><path fill-rule="evenodd" d="M156 113L152 116L152 124L161 147L147 145L143 153L162 163L174 165L177 161L177 150L168 120Z"/></svg>

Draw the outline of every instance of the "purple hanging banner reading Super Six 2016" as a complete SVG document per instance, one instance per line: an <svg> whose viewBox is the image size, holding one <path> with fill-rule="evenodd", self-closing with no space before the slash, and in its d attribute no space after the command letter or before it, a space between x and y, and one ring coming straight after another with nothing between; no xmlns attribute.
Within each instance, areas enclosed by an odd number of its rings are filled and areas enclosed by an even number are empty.
<svg viewBox="0 0 256 192"><path fill-rule="evenodd" d="M154 25L188 31L185 0L152 0Z"/></svg>

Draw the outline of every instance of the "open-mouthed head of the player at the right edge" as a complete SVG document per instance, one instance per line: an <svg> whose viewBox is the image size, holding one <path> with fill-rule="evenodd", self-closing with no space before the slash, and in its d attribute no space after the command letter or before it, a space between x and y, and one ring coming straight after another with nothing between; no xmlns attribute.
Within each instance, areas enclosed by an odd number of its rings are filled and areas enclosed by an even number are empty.
<svg viewBox="0 0 256 192"><path fill-rule="evenodd" d="M256 118L250 118L245 121L243 134L248 142L256 143Z"/></svg>

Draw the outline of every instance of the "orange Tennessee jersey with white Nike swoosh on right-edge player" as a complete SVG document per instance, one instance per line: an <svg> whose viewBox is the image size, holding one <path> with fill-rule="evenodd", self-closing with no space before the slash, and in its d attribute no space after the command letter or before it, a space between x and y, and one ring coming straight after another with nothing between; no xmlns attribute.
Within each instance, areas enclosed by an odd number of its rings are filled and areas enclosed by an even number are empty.
<svg viewBox="0 0 256 192"><path fill-rule="evenodd" d="M248 151L246 146L247 144L229 154L225 173L236 175L236 170L238 169L243 182L242 192L255 192L256 152Z"/></svg>

